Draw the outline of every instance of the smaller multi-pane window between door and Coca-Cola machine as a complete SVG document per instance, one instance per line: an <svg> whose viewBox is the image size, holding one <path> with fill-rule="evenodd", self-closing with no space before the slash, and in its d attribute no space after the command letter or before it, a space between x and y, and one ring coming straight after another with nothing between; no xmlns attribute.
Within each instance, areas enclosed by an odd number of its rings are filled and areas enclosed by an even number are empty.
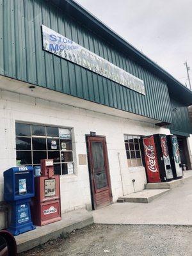
<svg viewBox="0 0 192 256"><path fill-rule="evenodd" d="M124 134L124 141L128 166L142 166L140 136Z"/></svg>

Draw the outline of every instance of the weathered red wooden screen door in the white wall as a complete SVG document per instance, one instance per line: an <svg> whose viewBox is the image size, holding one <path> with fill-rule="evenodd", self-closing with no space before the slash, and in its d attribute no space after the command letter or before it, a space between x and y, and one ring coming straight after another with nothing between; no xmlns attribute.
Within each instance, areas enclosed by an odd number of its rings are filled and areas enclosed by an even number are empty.
<svg viewBox="0 0 192 256"><path fill-rule="evenodd" d="M111 182L105 137L87 136L93 209L111 204Z"/></svg>

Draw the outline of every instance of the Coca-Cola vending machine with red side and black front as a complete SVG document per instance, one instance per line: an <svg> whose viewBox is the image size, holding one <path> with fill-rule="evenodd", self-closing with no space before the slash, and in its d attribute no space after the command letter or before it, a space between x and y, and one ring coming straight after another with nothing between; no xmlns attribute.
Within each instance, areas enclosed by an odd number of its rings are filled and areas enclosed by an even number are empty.
<svg viewBox="0 0 192 256"><path fill-rule="evenodd" d="M173 179L166 135L154 134L143 137L142 140L148 182L166 182Z"/></svg>

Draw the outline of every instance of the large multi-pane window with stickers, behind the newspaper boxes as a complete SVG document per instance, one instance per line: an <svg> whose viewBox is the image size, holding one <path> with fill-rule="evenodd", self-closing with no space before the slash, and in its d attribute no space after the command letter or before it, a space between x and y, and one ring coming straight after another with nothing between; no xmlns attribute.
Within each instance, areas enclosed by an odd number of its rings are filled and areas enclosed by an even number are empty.
<svg viewBox="0 0 192 256"><path fill-rule="evenodd" d="M55 174L74 173L71 129L47 125L15 124L17 165L40 165L53 159Z"/></svg>

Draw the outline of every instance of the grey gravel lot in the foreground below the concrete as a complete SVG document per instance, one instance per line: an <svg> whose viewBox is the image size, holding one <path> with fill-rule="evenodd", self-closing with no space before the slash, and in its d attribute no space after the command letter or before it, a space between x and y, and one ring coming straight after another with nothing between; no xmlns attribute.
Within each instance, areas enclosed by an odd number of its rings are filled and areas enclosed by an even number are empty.
<svg viewBox="0 0 192 256"><path fill-rule="evenodd" d="M192 227L90 225L19 256L191 256Z"/></svg>

